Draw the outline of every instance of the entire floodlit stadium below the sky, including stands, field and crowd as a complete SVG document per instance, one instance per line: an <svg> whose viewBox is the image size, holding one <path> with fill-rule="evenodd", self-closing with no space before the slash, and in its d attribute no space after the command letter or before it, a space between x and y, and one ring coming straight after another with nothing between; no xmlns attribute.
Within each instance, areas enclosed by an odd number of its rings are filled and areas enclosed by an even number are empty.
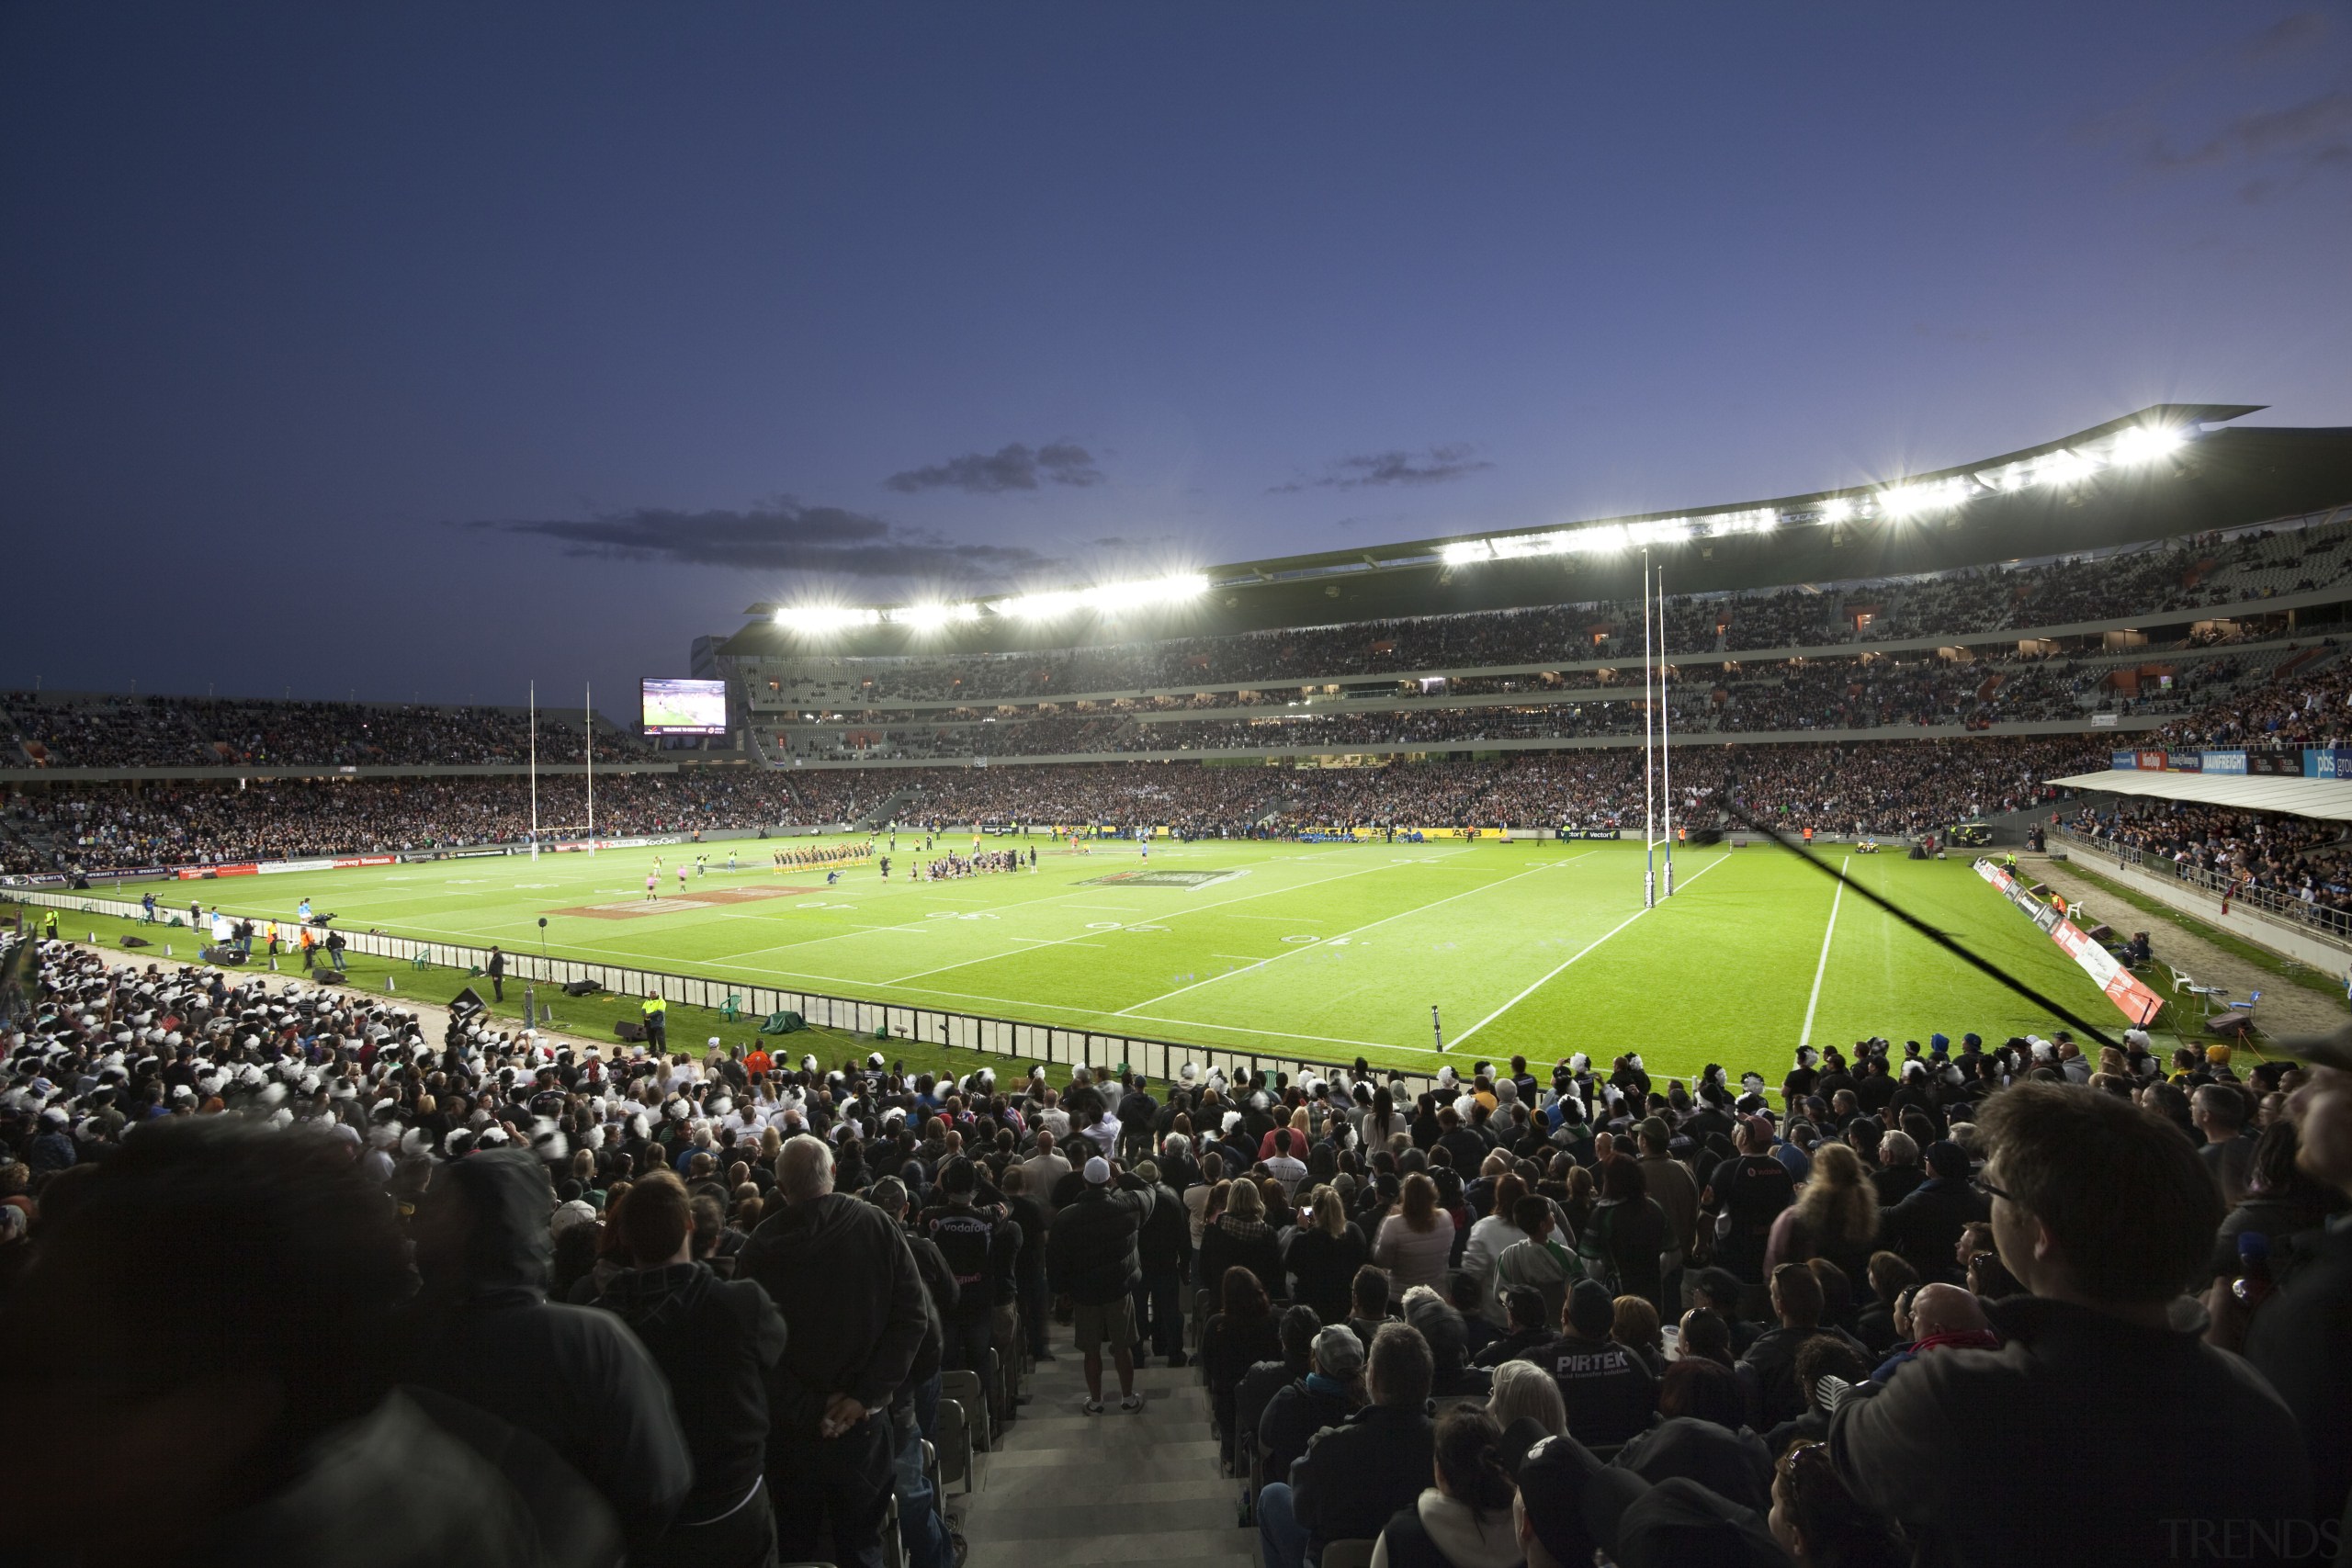
<svg viewBox="0 0 2352 1568"><path fill-rule="evenodd" d="M12 1549L2347 1561L2352 430L2251 411L757 604L699 750L0 693Z"/></svg>

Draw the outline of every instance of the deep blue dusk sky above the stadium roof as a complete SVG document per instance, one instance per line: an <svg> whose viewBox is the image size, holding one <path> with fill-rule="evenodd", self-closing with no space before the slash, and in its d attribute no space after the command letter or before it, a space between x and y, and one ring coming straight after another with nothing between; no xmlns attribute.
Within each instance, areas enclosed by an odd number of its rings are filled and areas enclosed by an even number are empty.
<svg viewBox="0 0 2352 1568"><path fill-rule="evenodd" d="M19 2L0 684L2352 423L2347 256L2340 5Z"/></svg>

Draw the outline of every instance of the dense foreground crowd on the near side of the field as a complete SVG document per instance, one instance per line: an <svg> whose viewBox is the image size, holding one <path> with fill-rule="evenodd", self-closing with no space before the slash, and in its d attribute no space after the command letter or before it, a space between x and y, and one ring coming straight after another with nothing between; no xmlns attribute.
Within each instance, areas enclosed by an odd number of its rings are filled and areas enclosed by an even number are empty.
<svg viewBox="0 0 2352 1568"><path fill-rule="evenodd" d="M1021 1352L1112 1446L1192 1363L1265 1568L2345 1561L2345 1041L1152 1084L0 978L42 1568L953 1568L922 1441Z"/></svg>

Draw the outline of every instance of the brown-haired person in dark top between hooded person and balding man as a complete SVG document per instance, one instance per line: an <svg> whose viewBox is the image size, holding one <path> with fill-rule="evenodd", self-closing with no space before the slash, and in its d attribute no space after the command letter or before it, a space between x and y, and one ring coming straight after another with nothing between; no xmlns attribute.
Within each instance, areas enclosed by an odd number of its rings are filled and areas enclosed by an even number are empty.
<svg viewBox="0 0 2352 1568"><path fill-rule="evenodd" d="M670 1171L640 1178L614 1222L633 1267L604 1284L597 1305L635 1331L668 1378L694 1458L694 1490L670 1530L635 1561L762 1568L776 1556L762 1467L767 1375L783 1354L783 1316L760 1286L694 1262L687 1185Z"/></svg>

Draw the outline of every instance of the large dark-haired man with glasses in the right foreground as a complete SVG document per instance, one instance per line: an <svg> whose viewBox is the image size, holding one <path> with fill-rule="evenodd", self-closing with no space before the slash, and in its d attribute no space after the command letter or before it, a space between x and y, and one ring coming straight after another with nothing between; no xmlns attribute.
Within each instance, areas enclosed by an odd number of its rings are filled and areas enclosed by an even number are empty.
<svg viewBox="0 0 2352 1568"><path fill-rule="evenodd" d="M2169 1321L2223 1218L2194 1147L2063 1084L2011 1086L1978 1126L1992 1232L2027 1295L1990 1307L2002 1349L1922 1356L1832 1399L1846 1490L1931 1563L2180 1561L2251 1521L2307 1521L2296 1418ZM1971 1462L1985 1453L2004 1462Z"/></svg>

